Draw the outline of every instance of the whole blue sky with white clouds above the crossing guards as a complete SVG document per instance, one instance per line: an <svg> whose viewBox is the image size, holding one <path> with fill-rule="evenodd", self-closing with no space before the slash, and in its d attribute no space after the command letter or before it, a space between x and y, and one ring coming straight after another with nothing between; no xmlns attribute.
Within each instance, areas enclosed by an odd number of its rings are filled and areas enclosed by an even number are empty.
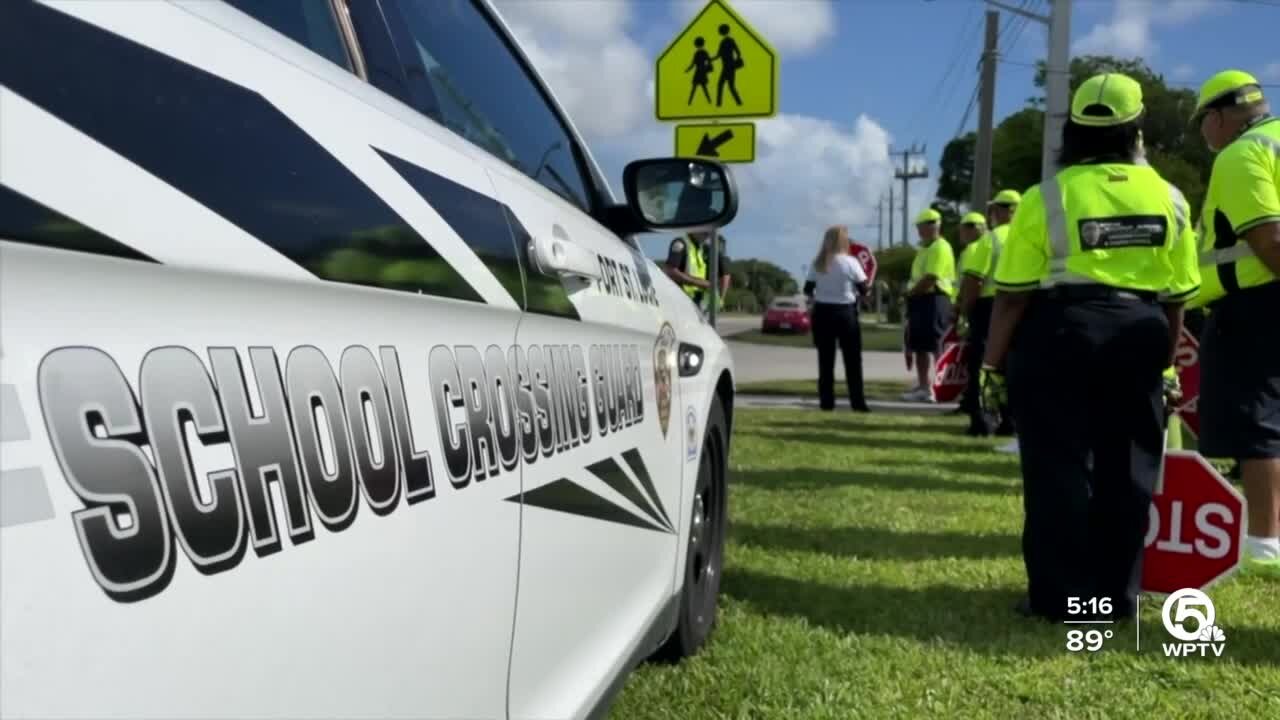
<svg viewBox="0 0 1280 720"><path fill-rule="evenodd" d="M927 145L933 177L913 183L911 214L932 200L938 158L978 79L980 0L730 1L782 56L780 117L758 123L758 161L735 167L732 256L799 272L835 223L874 245L864 223L876 222L887 192L890 145ZM1046 0L1006 3L1048 12ZM671 152L673 123L653 118L653 61L703 4L499 0L616 190L627 160ZM1071 14L1073 54L1142 56L1192 88L1239 67L1280 88L1280 0L1076 0ZM1046 51L1043 26L1012 18L1001 12L997 122L1036 94L1030 65ZM649 255L664 247L666 238L645 241Z"/></svg>

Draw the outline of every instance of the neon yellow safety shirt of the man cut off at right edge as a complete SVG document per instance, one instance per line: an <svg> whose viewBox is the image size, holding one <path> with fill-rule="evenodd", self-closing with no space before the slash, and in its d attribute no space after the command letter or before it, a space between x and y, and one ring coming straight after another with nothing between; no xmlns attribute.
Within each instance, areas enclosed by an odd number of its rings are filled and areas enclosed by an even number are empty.
<svg viewBox="0 0 1280 720"><path fill-rule="evenodd" d="M1244 240L1266 223L1280 223L1280 118L1253 126L1213 159L1197 227L1203 284L1193 305L1276 281Z"/></svg>

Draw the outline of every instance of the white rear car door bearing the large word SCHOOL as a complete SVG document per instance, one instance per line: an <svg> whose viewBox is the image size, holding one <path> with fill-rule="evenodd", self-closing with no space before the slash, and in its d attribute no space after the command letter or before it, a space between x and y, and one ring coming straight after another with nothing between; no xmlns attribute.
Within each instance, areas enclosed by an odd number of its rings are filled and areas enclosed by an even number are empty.
<svg viewBox="0 0 1280 720"><path fill-rule="evenodd" d="M504 716L509 231L328 4L233 5L0 3L0 714Z"/></svg>

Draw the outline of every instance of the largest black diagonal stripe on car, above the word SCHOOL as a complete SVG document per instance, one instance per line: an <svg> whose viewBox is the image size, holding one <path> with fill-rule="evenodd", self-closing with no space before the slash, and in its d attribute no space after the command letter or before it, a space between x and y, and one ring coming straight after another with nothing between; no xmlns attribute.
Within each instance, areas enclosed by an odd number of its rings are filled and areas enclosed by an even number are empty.
<svg viewBox="0 0 1280 720"><path fill-rule="evenodd" d="M27 0L0 1L0 83L321 278L483 301L257 92Z"/></svg>

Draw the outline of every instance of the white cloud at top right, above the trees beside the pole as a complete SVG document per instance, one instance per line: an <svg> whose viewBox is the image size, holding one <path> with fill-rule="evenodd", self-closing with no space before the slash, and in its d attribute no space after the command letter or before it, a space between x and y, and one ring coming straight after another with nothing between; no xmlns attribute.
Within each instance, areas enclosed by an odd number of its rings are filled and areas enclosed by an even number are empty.
<svg viewBox="0 0 1280 720"><path fill-rule="evenodd" d="M1155 26L1176 26L1219 8L1215 0L1115 0L1108 22L1075 41L1073 54L1149 59L1160 51Z"/></svg>

